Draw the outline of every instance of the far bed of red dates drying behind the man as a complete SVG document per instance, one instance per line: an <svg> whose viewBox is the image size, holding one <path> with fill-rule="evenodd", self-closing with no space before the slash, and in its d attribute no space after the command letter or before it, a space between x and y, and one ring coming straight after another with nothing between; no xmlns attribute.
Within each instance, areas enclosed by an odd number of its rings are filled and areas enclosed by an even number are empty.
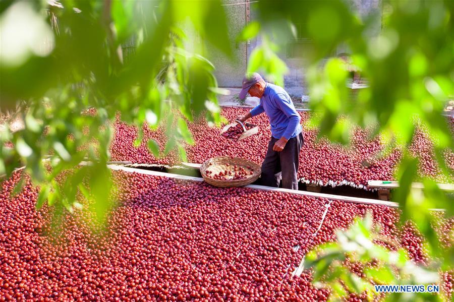
<svg viewBox="0 0 454 302"><path fill-rule="evenodd" d="M224 107L221 114L229 121L233 121L237 116L247 112L248 109L245 108ZM300 152L298 170L300 180L320 186L350 185L356 188L364 188L368 180L372 179L394 180L393 172L402 156L399 149L394 149L385 156L376 157L384 149L380 138L369 139L368 131L359 128L354 131L350 147L333 144L324 139L317 141L317 131L306 129L305 126L310 114L312 113L300 112L304 128L304 146ZM259 133L239 142L231 138L239 135L235 132L239 127L233 129L232 133L220 136L220 129L209 128L204 120L189 123L195 145L186 146L188 161L203 163L209 158L226 155L246 158L261 164L271 136L268 118L261 114L249 122L259 126ZM454 118L450 118L449 123L454 129ZM112 160L163 165L178 162L178 157L174 153L164 158L155 158L148 150L146 144L148 138L155 139L161 146L161 151L163 150L166 142L163 131L150 131L146 125L143 126L143 131L144 143L135 148L133 142L137 137L137 129L117 121L116 135L111 146ZM430 176L439 182L454 181L454 154L452 152L445 154L446 162L453 171L449 179L446 179L440 176L432 142L422 127L415 133L410 152L420 160L421 176Z"/></svg>

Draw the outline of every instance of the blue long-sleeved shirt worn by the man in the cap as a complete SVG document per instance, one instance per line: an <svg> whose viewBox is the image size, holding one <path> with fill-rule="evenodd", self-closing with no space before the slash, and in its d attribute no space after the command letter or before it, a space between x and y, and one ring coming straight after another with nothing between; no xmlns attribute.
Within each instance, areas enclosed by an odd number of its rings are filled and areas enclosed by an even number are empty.
<svg viewBox="0 0 454 302"><path fill-rule="evenodd" d="M260 104L251 110L255 116L265 112L271 125L271 135L287 140L296 137L302 131L301 117L293 105L290 95L282 87L266 83Z"/></svg>

